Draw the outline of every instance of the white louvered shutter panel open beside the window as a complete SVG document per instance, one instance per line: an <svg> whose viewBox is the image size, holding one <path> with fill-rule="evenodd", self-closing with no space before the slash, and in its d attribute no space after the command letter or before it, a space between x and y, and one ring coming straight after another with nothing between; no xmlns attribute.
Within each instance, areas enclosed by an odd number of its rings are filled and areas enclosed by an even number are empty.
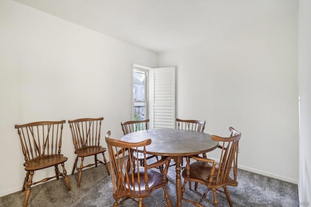
<svg viewBox="0 0 311 207"><path fill-rule="evenodd" d="M175 68L151 70L151 128L175 128Z"/></svg>

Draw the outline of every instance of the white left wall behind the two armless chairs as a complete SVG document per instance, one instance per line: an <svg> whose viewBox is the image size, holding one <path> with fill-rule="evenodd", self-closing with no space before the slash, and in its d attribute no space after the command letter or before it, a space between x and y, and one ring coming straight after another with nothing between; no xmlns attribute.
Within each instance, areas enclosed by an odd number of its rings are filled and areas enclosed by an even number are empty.
<svg viewBox="0 0 311 207"><path fill-rule="evenodd" d="M156 67L157 54L0 0L0 196L21 190L25 176L15 124L104 117L103 136L111 130L111 137L120 138L121 121L132 116L133 63ZM71 172L68 122L62 153ZM51 173L52 168L34 178Z"/></svg>

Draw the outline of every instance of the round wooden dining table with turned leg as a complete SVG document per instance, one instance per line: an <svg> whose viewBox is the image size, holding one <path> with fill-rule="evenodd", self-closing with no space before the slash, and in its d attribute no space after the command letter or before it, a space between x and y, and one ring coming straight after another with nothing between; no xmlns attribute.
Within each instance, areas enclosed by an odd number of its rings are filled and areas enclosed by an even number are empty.
<svg viewBox="0 0 311 207"><path fill-rule="evenodd" d="M182 206L181 162L184 156L199 155L214 150L218 141L211 135L198 131L182 129L147 129L132 132L121 137L122 141L139 142L150 138L151 144L146 146L150 155L172 156L176 172L177 207Z"/></svg>

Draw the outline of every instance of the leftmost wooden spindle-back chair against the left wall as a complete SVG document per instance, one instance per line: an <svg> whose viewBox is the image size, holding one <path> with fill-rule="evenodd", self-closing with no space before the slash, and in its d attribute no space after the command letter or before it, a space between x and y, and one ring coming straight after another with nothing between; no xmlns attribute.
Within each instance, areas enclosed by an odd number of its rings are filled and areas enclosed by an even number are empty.
<svg viewBox="0 0 311 207"><path fill-rule="evenodd" d="M68 158L60 154L63 123L65 122L65 120L39 121L23 125L15 125L25 158L25 171L27 172L22 187L22 191L26 189L23 204L24 207L27 206L31 186L37 183L46 182L52 178L57 178L58 180L59 176L62 176L65 180L67 189L70 190L69 179L64 164ZM58 164L61 164L63 173L58 171ZM35 171L48 167L55 168L55 176L33 182Z"/></svg>

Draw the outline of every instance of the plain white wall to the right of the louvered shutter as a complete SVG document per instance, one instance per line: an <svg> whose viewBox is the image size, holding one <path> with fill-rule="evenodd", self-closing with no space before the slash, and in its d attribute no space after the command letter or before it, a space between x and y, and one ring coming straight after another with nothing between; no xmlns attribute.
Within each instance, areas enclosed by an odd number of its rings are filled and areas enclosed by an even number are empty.
<svg viewBox="0 0 311 207"><path fill-rule="evenodd" d="M297 17L160 53L164 66L177 67L176 117L221 136L233 126L241 168L297 183Z"/></svg>

